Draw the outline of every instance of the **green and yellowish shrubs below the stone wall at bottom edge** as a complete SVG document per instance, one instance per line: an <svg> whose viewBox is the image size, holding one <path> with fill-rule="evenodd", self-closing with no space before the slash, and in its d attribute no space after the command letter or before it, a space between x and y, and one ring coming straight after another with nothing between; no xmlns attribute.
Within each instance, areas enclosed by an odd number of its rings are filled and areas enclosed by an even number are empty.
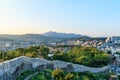
<svg viewBox="0 0 120 80"><path fill-rule="evenodd" d="M63 72L61 69L39 71L30 80L108 80L109 73L92 74L90 72Z"/></svg>

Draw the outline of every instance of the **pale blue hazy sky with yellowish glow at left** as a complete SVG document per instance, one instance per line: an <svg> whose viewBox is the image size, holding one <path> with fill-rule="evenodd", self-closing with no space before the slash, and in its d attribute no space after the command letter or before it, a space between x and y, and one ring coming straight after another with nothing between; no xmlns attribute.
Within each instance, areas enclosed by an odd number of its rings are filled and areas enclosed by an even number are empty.
<svg viewBox="0 0 120 80"><path fill-rule="evenodd" d="M0 34L120 35L120 0L0 0Z"/></svg>

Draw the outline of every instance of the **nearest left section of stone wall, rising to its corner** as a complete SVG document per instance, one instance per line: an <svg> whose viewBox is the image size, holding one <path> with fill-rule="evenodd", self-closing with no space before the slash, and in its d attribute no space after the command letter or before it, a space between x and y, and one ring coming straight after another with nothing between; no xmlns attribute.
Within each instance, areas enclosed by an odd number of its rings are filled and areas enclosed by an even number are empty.
<svg viewBox="0 0 120 80"><path fill-rule="evenodd" d="M24 70L32 69L32 64L27 60L27 57L21 56L0 63L0 80L15 80Z"/></svg>

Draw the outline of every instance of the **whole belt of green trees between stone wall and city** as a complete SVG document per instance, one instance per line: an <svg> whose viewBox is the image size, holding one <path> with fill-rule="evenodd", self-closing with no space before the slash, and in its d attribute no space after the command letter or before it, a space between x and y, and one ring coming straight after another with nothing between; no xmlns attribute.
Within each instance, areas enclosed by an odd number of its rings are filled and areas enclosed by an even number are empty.
<svg viewBox="0 0 120 80"><path fill-rule="evenodd" d="M42 57L45 59L62 60L77 63L89 67L102 67L108 64L109 54L93 47L71 47L68 52L56 52L52 57L48 57L49 48L44 46L30 46L28 48L18 48L7 52L0 52L0 62L13 59L19 56Z"/></svg>

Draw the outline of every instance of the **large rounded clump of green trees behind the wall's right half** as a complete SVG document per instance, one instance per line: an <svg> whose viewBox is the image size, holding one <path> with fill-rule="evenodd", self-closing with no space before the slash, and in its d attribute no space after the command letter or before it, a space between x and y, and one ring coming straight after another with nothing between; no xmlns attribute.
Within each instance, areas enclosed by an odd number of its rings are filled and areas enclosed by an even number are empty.
<svg viewBox="0 0 120 80"><path fill-rule="evenodd" d="M109 63L109 54L93 47L74 47L67 53L56 53L53 60L63 60L89 67L102 67Z"/></svg>

